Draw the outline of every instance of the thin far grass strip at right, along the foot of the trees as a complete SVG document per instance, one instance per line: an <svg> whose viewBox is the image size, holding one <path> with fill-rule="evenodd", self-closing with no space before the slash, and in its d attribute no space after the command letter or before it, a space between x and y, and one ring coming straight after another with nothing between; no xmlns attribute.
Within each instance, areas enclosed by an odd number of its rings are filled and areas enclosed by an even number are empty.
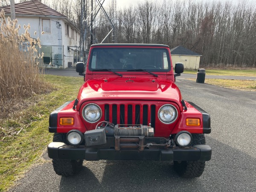
<svg viewBox="0 0 256 192"><path fill-rule="evenodd" d="M184 70L184 73L196 74L197 70ZM256 77L256 70L206 70L207 75Z"/></svg>

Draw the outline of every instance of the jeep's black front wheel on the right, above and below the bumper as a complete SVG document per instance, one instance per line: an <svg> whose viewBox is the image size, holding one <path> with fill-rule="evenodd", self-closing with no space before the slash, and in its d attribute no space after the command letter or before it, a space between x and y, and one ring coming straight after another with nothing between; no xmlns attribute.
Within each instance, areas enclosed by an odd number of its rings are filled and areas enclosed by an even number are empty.
<svg viewBox="0 0 256 192"><path fill-rule="evenodd" d="M193 145L205 145L204 134L192 134ZM200 177L204 172L205 161L174 161L174 169L181 177Z"/></svg>

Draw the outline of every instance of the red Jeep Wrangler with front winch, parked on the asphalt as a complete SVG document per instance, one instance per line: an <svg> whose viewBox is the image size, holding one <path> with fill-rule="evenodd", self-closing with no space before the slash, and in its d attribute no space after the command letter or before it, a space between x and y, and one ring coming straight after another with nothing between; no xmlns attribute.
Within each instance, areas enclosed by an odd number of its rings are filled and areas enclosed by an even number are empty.
<svg viewBox="0 0 256 192"><path fill-rule="evenodd" d="M170 49L160 44L95 44L77 98L49 116L48 155L58 175L81 170L83 160L173 161L182 177L199 177L212 149L204 134L210 116L183 100Z"/></svg>

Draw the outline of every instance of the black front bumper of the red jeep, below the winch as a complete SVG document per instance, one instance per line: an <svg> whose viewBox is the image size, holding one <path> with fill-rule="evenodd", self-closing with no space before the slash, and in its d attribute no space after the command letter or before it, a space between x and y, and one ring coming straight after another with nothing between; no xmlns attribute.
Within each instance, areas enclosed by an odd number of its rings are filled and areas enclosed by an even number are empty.
<svg viewBox="0 0 256 192"><path fill-rule="evenodd" d="M51 159L84 159L95 160L162 160L162 161L209 161L212 149L209 145L193 147L171 147L151 149L86 148L84 145L72 146L61 142L48 145L48 156Z"/></svg>

